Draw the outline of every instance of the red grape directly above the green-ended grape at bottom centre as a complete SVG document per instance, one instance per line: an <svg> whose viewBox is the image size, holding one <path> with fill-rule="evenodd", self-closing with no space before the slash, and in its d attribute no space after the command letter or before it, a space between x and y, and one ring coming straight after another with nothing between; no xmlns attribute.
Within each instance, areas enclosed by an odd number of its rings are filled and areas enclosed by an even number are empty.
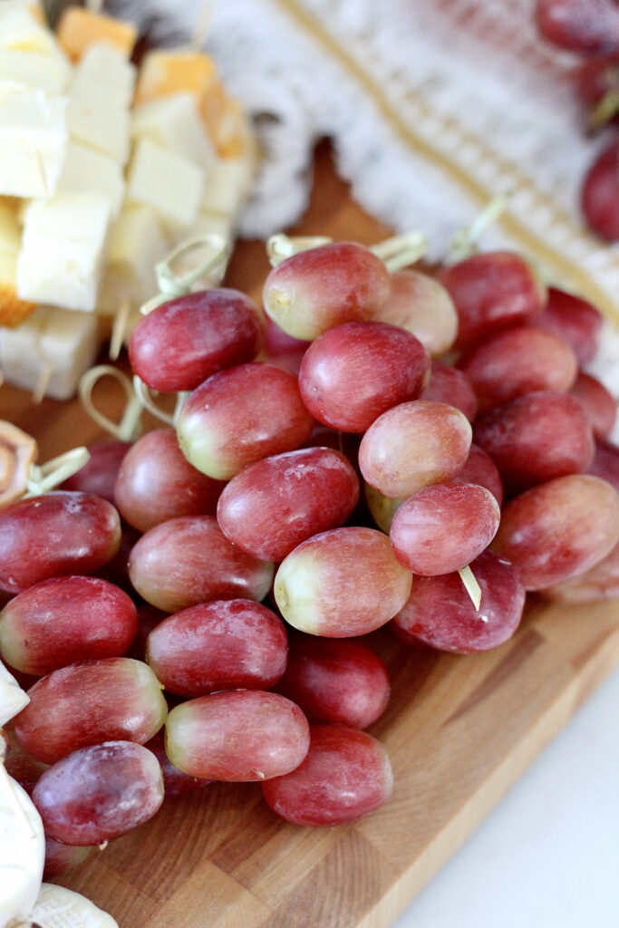
<svg viewBox="0 0 619 928"><path fill-rule="evenodd" d="M270 690L286 669L288 639L275 612L251 599L206 602L150 632L147 661L166 690Z"/></svg>

